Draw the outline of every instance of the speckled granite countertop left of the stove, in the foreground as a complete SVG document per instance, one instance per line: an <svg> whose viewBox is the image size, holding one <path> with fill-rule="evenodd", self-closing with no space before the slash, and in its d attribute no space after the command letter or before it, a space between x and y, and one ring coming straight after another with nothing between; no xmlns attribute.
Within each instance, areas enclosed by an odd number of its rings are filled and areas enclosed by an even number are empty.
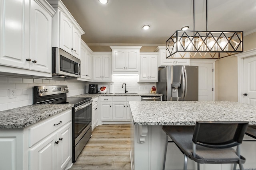
<svg viewBox="0 0 256 170"><path fill-rule="evenodd" d="M0 129L24 128L72 107L73 104L34 104L0 111Z"/></svg>

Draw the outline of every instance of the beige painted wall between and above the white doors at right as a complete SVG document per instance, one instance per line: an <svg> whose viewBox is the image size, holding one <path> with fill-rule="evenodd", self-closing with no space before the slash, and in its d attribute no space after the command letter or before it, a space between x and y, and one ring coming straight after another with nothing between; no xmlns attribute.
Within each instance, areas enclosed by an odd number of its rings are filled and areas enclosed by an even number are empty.
<svg viewBox="0 0 256 170"><path fill-rule="evenodd" d="M256 32L244 36L244 51L255 48ZM219 59L215 68L215 100L237 102L237 57Z"/></svg>

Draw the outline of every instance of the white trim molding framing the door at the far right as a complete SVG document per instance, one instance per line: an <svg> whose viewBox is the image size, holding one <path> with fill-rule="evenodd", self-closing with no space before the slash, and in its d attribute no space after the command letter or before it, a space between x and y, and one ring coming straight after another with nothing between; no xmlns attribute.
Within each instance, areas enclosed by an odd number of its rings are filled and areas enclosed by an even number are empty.
<svg viewBox="0 0 256 170"><path fill-rule="evenodd" d="M256 57L256 49L251 49L235 56L237 57L237 101L242 103L244 59Z"/></svg>

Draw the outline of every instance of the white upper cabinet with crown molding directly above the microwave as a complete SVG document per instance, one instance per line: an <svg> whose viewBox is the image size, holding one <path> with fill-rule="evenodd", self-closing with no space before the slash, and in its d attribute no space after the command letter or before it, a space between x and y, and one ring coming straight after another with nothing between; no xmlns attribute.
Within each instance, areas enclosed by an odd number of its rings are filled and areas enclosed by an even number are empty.
<svg viewBox="0 0 256 170"><path fill-rule="evenodd" d="M57 11L52 21L52 47L59 47L80 59L81 35L84 31L60 0L48 0Z"/></svg>

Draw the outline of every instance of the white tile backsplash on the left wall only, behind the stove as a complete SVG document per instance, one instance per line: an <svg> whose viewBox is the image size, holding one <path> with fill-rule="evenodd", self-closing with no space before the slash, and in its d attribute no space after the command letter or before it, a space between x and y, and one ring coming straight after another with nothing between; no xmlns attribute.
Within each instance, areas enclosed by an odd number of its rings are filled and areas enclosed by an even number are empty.
<svg viewBox="0 0 256 170"><path fill-rule="evenodd" d="M80 81L0 76L0 111L33 104L33 87L49 85L67 85L68 97L85 92L85 82ZM9 98L9 89L16 90L16 98Z"/></svg>

